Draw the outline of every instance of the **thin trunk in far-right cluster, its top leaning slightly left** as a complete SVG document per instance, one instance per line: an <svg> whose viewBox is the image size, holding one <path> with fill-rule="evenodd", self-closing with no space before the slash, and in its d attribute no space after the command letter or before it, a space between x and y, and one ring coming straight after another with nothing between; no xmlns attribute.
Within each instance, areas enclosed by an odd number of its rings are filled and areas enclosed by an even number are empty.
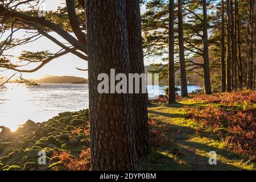
<svg viewBox="0 0 256 182"><path fill-rule="evenodd" d="M242 67L242 55L241 55L241 34L240 34L240 16L238 11L238 1L236 0L236 12L237 12L237 43L238 43L238 79L240 90L243 89L243 67Z"/></svg>

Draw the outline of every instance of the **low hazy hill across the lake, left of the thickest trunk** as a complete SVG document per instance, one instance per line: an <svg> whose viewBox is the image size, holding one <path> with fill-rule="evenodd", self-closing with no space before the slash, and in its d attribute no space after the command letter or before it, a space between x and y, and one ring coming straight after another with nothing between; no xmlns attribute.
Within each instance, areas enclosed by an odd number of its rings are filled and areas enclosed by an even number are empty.
<svg viewBox="0 0 256 182"><path fill-rule="evenodd" d="M34 81L38 84L88 84L87 79L75 76L49 76Z"/></svg>

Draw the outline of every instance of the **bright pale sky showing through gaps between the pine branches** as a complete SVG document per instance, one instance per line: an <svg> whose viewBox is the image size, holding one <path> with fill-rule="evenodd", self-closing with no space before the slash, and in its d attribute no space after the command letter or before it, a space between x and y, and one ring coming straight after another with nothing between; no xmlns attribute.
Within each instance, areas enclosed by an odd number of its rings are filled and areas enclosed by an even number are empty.
<svg viewBox="0 0 256 182"><path fill-rule="evenodd" d="M52 0L46 0L45 1L45 8L46 10L56 10L58 6L65 6L65 1L64 0L57 0L57 1L52 1ZM26 9L26 7L22 7ZM142 13L145 12L145 7L142 6ZM52 36L54 36L56 39L63 41L64 40L57 34L51 33ZM15 34L15 38L19 38L24 36L24 32L18 32ZM56 46L55 43L52 43L50 40L47 38L40 38L36 40L33 43L28 43L26 46L21 46L19 48L12 49L9 54L14 55L14 56L19 56L20 53L23 50L26 51L44 51L44 50L49 50L51 52L57 52L61 48L59 46ZM18 59L13 59L14 61L18 61ZM152 60L144 60L145 65L149 65L152 63ZM33 64L33 66L27 66L23 67L26 69L32 69L35 68L36 64ZM73 55L72 53L69 53L67 55L61 56L55 60L52 60L50 63L44 65L43 68L39 69L39 71L36 71L34 73L22 73L22 76L27 79L38 79L38 78L43 78L46 76L77 76L77 77L85 77L88 78L88 72L86 71L79 71L76 69L77 68L82 68L82 69L87 69L88 64L86 61L80 59L79 57ZM13 75L13 71L5 71L5 72L0 72L0 75L3 75L5 77L9 77Z"/></svg>

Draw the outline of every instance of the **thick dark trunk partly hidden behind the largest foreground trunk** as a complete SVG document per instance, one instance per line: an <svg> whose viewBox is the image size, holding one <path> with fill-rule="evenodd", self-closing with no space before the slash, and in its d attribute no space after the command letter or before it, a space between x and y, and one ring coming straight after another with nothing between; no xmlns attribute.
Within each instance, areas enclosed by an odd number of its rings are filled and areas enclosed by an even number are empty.
<svg viewBox="0 0 256 182"><path fill-rule="evenodd" d="M141 12L139 0L126 0L128 44L131 73L145 73L142 49ZM145 85L146 86L146 85ZM148 134L147 94L133 93L133 117L137 154L150 154L150 139Z"/></svg>

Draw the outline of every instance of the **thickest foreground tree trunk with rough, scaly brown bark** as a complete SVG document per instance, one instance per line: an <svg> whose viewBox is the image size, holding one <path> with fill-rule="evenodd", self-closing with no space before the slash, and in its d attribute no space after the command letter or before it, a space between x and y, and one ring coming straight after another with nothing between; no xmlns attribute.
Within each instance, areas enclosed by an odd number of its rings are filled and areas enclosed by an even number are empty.
<svg viewBox="0 0 256 182"><path fill-rule="evenodd" d="M97 90L100 73L130 72L125 0L86 1L92 170L136 170L131 94Z"/></svg>

